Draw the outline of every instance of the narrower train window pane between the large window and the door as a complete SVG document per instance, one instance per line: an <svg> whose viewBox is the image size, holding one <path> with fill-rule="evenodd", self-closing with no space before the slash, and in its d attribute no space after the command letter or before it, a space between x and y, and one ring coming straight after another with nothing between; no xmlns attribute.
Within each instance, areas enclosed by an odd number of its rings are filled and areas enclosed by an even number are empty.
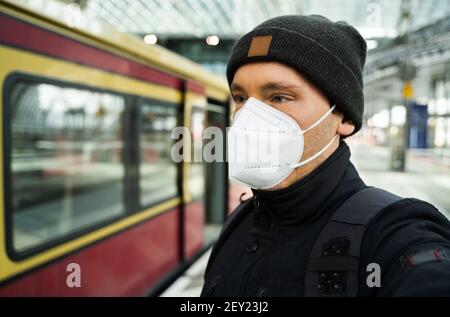
<svg viewBox="0 0 450 317"><path fill-rule="evenodd" d="M147 100L143 100L139 108L139 197L141 206L145 207L177 195L177 167L170 156L177 108Z"/></svg>

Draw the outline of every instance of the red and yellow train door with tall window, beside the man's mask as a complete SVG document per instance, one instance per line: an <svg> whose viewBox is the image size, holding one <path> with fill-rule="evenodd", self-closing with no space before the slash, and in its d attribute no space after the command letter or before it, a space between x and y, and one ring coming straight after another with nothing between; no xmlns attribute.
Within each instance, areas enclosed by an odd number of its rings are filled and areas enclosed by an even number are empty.
<svg viewBox="0 0 450 317"><path fill-rule="evenodd" d="M197 83L186 82L184 95L184 127L189 136L184 138L182 163L181 215L183 258L189 259L219 235L227 205L227 174L224 158L206 162L205 129L218 127L225 133L226 110L218 103L208 102L204 89ZM225 153L224 139L217 144ZM217 149L219 150L219 149Z"/></svg>

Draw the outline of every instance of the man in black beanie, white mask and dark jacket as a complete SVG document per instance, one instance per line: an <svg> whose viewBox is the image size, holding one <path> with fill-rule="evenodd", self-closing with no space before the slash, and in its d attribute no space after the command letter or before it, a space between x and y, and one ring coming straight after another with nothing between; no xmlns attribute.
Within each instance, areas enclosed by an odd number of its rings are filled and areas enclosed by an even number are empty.
<svg viewBox="0 0 450 317"><path fill-rule="evenodd" d="M238 142L252 136L277 146L265 161L230 161L254 196L225 224L202 296L450 295L449 221L366 186L349 160L365 57L353 27L321 16L273 18L234 45L229 151L256 151Z"/></svg>

